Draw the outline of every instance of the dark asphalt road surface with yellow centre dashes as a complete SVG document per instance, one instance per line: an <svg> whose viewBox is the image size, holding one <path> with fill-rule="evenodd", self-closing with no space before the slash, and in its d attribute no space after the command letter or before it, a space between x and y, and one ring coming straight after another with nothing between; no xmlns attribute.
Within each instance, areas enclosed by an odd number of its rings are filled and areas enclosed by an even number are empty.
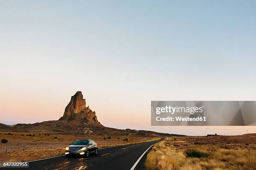
<svg viewBox="0 0 256 170"><path fill-rule="evenodd" d="M163 139L161 139L163 140ZM29 162L29 168L1 168L10 170L130 170L141 155L155 143L156 140L147 143L130 144L102 148L97 155L73 157L56 157L45 160ZM149 151L149 150L148 150ZM141 170L146 154L138 162L134 170Z"/></svg>

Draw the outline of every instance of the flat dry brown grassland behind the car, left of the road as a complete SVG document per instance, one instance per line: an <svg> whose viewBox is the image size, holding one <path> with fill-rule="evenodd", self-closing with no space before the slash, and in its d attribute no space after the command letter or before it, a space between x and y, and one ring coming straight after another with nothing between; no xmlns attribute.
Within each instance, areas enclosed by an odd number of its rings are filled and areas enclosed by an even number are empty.
<svg viewBox="0 0 256 170"><path fill-rule="evenodd" d="M42 158L49 158L53 156L63 155L64 148L69 143L78 139L92 139L98 143L99 148L109 146L128 145L131 143L142 143L159 138L149 137L131 137L131 136L111 136L111 139L106 139L109 136L74 136L74 135L44 135L39 133L17 133L12 132L13 135L5 135L6 132L0 132L0 140L7 139L8 143L0 143L0 161L29 161ZM32 136L27 136L31 134ZM33 136L35 134L35 136ZM57 137L57 138L54 138ZM119 139L118 139L119 138ZM128 138L128 142L123 139ZM24 150L23 147L25 146ZM5 149L7 154L5 156Z"/></svg>

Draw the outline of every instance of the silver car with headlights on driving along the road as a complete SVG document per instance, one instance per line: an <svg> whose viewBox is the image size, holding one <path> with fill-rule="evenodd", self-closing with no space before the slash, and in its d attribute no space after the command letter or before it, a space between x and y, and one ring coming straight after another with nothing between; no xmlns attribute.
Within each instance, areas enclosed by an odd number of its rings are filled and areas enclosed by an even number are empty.
<svg viewBox="0 0 256 170"><path fill-rule="evenodd" d="M79 154L88 157L90 153L98 153L98 145L94 140L77 140L65 149L66 156Z"/></svg>

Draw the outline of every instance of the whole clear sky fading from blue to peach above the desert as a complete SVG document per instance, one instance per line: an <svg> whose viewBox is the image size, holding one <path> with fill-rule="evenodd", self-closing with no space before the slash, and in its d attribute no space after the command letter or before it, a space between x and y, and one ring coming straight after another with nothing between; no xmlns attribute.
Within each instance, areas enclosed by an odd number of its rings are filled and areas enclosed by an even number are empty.
<svg viewBox="0 0 256 170"><path fill-rule="evenodd" d="M0 122L57 120L82 91L113 128L151 127L151 100L256 100L256 1L0 0Z"/></svg>

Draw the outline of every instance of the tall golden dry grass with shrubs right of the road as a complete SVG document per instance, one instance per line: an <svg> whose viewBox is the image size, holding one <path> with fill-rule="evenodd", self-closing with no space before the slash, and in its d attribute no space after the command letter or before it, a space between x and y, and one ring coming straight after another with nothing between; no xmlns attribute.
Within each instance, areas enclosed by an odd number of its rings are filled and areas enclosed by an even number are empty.
<svg viewBox="0 0 256 170"><path fill-rule="evenodd" d="M218 141L207 143L205 140L209 138L177 137L177 140L166 138L148 153L145 168L147 170L256 169L255 143L232 145Z"/></svg>

